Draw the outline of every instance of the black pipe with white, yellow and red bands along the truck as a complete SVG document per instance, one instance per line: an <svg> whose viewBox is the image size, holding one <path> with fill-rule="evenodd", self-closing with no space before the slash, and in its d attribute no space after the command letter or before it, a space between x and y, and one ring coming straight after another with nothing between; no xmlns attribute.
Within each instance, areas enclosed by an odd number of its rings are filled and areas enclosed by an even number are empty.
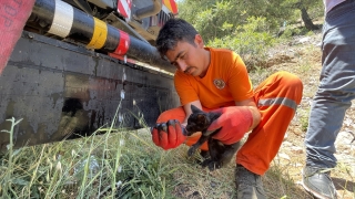
<svg viewBox="0 0 355 199"><path fill-rule="evenodd" d="M175 69L161 59L151 44L121 31L61 0L37 0L30 20L44 22L48 33L69 38L115 55L128 55L136 61L160 67L168 72ZM47 24L47 25L45 25Z"/></svg>

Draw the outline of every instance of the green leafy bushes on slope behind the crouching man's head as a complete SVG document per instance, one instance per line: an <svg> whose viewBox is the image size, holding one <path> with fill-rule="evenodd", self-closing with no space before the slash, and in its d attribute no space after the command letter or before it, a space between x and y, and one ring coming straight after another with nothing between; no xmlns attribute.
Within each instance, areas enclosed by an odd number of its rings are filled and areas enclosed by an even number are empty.
<svg viewBox="0 0 355 199"><path fill-rule="evenodd" d="M192 23L204 40L211 41L231 35L252 17L265 18L266 25L256 31L274 35L284 22L296 22L300 13L306 29L315 30L317 27L308 10L322 7L321 3L313 0L184 0L179 2L179 10L180 18Z"/></svg>

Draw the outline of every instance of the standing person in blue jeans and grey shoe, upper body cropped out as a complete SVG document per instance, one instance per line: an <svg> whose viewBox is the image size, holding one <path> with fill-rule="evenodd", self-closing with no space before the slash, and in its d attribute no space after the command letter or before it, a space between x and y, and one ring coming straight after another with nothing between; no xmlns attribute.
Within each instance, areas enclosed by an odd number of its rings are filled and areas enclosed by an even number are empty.
<svg viewBox="0 0 355 199"><path fill-rule="evenodd" d="M303 187L317 198L336 198L329 170L335 139L355 98L355 0L324 0L322 72L305 136Z"/></svg>

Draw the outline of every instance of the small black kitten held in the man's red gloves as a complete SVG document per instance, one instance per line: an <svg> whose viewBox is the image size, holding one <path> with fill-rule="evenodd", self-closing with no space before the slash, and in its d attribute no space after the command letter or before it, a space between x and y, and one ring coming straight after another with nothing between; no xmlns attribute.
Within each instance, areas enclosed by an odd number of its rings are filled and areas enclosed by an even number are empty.
<svg viewBox="0 0 355 199"><path fill-rule="evenodd" d="M191 136L196 132L201 132L202 135L197 143L192 145L189 148L187 155L192 156L196 149L201 147L204 142L209 142L209 153L210 158L205 159L202 163L202 167L209 166L210 170L214 170L221 168L229 164L240 148L240 142L232 144L232 145L224 145L217 139L213 139L212 136L220 132L221 128L214 132L207 132L209 126L213 121L221 116L220 113L206 113L199 109L196 106L191 105L192 114L187 118L187 126L186 126L186 135Z"/></svg>

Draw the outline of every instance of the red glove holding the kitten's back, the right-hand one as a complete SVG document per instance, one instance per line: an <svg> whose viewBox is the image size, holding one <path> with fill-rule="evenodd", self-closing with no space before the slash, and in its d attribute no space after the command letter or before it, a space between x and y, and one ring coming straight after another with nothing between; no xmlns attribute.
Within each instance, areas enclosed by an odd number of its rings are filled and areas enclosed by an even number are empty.
<svg viewBox="0 0 355 199"><path fill-rule="evenodd" d="M245 107L229 106L213 112L221 113L222 115L209 126L207 130L214 132L222 127L213 138L225 145L241 140L253 125L253 115Z"/></svg>

